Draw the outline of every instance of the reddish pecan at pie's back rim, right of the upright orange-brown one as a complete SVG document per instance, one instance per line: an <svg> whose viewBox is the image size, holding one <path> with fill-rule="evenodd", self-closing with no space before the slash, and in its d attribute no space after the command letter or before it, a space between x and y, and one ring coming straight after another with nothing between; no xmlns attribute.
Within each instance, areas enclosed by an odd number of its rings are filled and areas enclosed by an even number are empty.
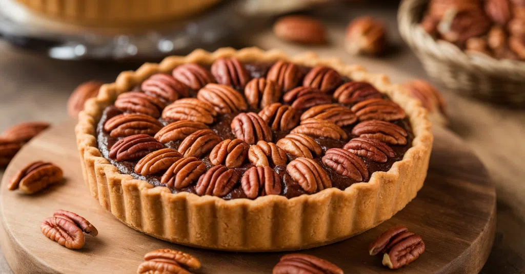
<svg viewBox="0 0 525 274"><path fill-rule="evenodd" d="M341 83L341 74L324 65L317 65L311 69L302 81L303 86L313 87L322 92L329 92Z"/></svg>

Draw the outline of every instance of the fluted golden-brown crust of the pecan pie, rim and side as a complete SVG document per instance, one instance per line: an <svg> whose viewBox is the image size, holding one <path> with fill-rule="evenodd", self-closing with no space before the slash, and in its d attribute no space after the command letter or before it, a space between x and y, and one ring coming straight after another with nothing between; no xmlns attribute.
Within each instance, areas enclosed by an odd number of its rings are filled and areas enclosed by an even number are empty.
<svg viewBox="0 0 525 274"><path fill-rule="evenodd" d="M171 193L166 187L137 180L102 157L96 137L104 108L150 75L169 73L177 65L210 65L220 57L240 61L288 60L313 67L325 64L356 81L372 83L403 107L412 124L414 140L403 159L387 172L374 172L369 182L354 183L344 191L329 188L287 199L280 195L256 200L223 200L188 192ZM371 74L336 59L306 53L288 57L278 50L257 48L215 52L195 50L185 57L172 56L160 64L146 63L137 71L122 72L117 81L102 86L79 115L77 145L82 171L91 195L120 221L143 233L173 243L209 249L238 251L297 250L322 246L362 233L388 220L412 199L425 180L433 136L427 112L386 75Z"/></svg>

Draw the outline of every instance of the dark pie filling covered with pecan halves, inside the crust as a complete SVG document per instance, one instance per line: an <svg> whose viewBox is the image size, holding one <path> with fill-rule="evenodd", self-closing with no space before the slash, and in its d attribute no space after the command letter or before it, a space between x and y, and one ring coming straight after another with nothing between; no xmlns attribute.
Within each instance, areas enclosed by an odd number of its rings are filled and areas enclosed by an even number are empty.
<svg viewBox="0 0 525 274"><path fill-rule="evenodd" d="M106 108L97 130L120 172L226 200L366 183L413 139L404 109L371 83L326 65L235 57L152 74Z"/></svg>

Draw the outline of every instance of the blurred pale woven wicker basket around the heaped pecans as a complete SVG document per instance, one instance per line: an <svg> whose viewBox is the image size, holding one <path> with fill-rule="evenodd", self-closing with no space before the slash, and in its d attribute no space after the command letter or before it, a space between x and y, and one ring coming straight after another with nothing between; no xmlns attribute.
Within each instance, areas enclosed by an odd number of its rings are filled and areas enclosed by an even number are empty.
<svg viewBox="0 0 525 274"><path fill-rule="evenodd" d="M397 15L403 39L436 82L464 95L525 106L525 62L465 53L453 43L435 40L419 22L428 0L404 0Z"/></svg>

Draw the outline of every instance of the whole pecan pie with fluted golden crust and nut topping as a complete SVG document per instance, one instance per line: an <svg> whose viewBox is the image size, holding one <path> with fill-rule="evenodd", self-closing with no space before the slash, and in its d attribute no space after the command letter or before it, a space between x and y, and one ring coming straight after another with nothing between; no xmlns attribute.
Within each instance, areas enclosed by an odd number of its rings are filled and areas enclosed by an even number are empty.
<svg viewBox="0 0 525 274"><path fill-rule="evenodd" d="M297 250L362 233L415 198L426 116L359 66L223 48L122 72L87 101L76 136L91 194L130 227L209 249Z"/></svg>

